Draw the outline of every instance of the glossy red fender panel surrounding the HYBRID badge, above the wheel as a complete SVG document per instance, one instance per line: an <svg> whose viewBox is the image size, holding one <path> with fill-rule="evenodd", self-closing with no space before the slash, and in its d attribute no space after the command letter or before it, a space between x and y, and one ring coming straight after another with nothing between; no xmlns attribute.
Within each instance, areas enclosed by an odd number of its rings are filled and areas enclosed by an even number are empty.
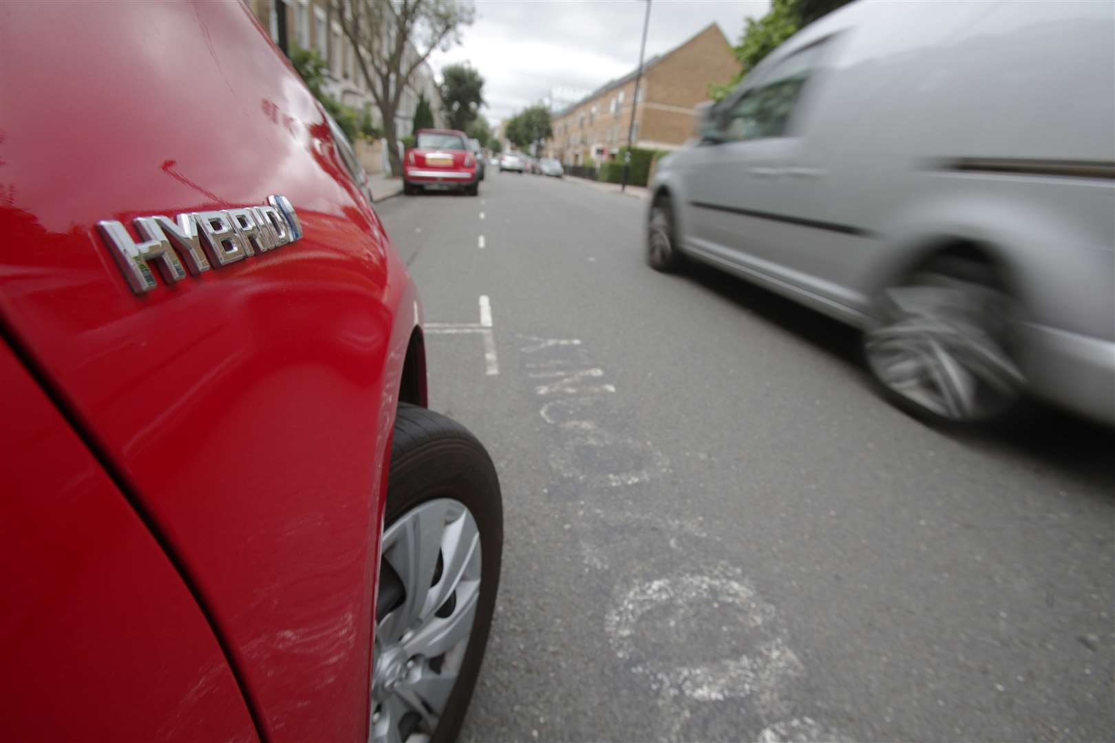
<svg viewBox="0 0 1115 743"><path fill-rule="evenodd" d="M166 549L260 735L365 739L419 307L318 104L241 3L0 4L0 66L18 70L0 76L4 339ZM272 194L293 204L300 241L143 295L96 232ZM31 465L51 467L37 451ZM84 528L115 540L114 518ZM40 649L59 674L72 662L66 644ZM140 702L157 730L165 710ZM229 710L214 730L240 730Z"/></svg>

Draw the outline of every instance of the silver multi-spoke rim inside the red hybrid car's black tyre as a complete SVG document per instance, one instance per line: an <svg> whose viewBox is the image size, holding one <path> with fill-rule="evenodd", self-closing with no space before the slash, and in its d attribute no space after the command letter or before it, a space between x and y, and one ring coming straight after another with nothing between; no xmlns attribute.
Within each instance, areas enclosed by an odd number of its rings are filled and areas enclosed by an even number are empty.
<svg viewBox="0 0 1115 743"><path fill-rule="evenodd" d="M384 532L376 624L371 740L428 741L465 657L481 589L481 537L463 504L439 498ZM392 573L388 573L388 570ZM396 590L385 590L385 574ZM396 580L397 578L397 580ZM401 594L401 595L399 595Z"/></svg>

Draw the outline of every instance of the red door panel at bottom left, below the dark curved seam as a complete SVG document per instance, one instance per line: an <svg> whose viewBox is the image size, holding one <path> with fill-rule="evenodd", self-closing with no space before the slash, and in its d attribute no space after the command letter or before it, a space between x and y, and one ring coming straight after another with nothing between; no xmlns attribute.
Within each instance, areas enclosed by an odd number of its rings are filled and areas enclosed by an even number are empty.
<svg viewBox="0 0 1115 743"><path fill-rule="evenodd" d="M3 739L255 740L194 598L3 345L0 380Z"/></svg>

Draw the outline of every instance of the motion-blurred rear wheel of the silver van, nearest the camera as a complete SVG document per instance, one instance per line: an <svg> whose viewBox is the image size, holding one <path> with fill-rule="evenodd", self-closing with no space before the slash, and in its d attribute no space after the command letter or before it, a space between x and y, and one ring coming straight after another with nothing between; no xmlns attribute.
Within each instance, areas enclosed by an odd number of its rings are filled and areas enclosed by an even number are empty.
<svg viewBox="0 0 1115 743"><path fill-rule="evenodd" d="M993 418L1025 383L1004 348L1008 306L997 290L935 274L888 290L865 336L867 364L883 385L933 416Z"/></svg>

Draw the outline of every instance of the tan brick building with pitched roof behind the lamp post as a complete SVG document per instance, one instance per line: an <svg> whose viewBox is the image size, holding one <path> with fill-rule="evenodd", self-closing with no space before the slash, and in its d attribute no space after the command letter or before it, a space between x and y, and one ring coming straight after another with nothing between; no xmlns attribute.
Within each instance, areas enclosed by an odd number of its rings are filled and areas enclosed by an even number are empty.
<svg viewBox="0 0 1115 743"><path fill-rule="evenodd" d="M716 23L643 65L639 100L636 72L612 80L553 118L550 157L565 165L614 159L627 145L631 106L636 106L637 147L676 149L692 136L697 105L708 99L709 82L728 82L739 71L731 45Z"/></svg>

